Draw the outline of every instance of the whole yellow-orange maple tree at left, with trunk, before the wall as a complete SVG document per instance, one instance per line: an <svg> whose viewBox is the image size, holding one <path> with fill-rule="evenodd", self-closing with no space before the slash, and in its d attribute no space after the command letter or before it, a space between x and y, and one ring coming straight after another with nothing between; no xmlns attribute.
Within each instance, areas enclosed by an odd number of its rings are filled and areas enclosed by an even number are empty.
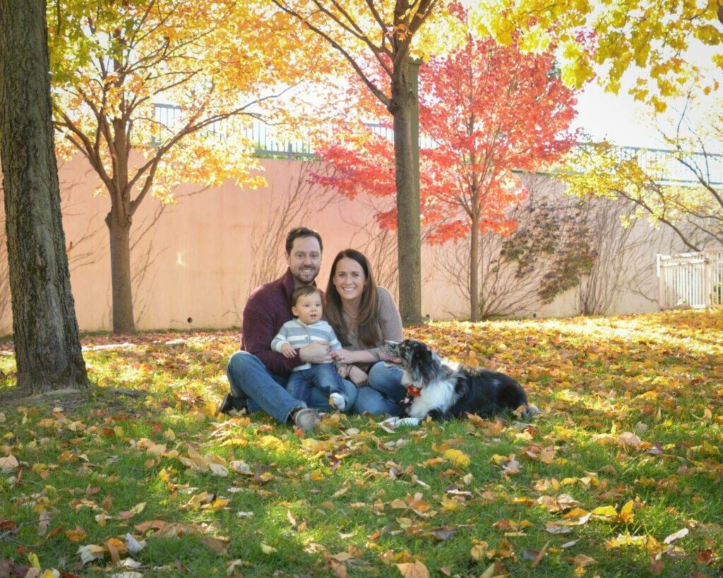
<svg viewBox="0 0 723 578"><path fill-rule="evenodd" d="M180 183L263 184L244 128L324 51L264 1L59 0L47 17L56 149L85 156L110 197L113 328L132 332L140 203L174 202Z"/></svg>

